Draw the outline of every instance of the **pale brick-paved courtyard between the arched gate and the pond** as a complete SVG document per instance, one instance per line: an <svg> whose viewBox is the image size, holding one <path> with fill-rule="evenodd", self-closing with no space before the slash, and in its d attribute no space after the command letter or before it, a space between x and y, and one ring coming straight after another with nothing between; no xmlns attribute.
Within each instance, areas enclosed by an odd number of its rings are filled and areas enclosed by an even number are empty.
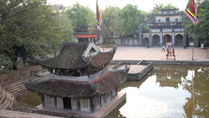
<svg viewBox="0 0 209 118"><path fill-rule="evenodd" d="M103 48L100 49L103 51ZM108 51L110 48L105 48ZM166 53L160 47L128 47L119 46L113 60L166 60ZM176 60L192 60L192 47L175 48ZM209 61L208 49L194 48L194 60Z"/></svg>

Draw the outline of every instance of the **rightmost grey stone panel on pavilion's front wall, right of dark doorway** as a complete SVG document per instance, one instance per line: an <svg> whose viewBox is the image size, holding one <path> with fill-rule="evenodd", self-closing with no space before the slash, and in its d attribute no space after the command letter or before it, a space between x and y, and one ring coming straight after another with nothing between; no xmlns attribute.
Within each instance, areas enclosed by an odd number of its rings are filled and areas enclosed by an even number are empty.
<svg viewBox="0 0 209 118"><path fill-rule="evenodd" d="M90 99L80 99L80 110L84 112L91 112Z"/></svg>

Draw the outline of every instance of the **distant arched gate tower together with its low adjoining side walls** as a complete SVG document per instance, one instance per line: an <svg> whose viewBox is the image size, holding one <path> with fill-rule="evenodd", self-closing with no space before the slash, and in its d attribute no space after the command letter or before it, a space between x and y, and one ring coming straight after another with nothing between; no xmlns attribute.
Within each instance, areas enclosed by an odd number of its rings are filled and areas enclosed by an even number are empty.
<svg viewBox="0 0 209 118"><path fill-rule="evenodd" d="M115 39L117 45L125 46L147 46L155 47L162 45L173 45L176 47L198 46L198 41L194 42L194 35L186 37L185 27L183 26L182 14L179 9L159 10L154 22L147 24L148 33L142 33L142 24L139 18L139 26L133 37L120 37Z"/></svg>

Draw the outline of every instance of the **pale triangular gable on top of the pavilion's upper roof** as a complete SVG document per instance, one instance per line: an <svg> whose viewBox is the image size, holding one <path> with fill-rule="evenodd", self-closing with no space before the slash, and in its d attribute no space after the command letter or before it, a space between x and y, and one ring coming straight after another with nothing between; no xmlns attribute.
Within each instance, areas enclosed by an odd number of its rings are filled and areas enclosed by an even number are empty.
<svg viewBox="0 0 209 118"><path fill-rule="evenodd" d="M100 51L94 42L90 41L88 47L82 54L82 59L87 62L90 57L96 56L99 52Z"/></svg>

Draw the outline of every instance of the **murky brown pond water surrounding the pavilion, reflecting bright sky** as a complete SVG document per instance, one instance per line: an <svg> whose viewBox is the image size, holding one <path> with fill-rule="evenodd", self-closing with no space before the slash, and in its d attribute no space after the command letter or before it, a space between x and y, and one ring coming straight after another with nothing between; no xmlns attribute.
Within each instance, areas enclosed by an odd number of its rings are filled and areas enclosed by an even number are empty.
<svg viewBox="0 0 209 118"><path fill-rule="evenodd" d="M141 81L125 82L119 91L126 101L107 118L207 118L209 116L209 67L154 66ZM18 97L26 106L40 99L30 93Z"/></svg>

